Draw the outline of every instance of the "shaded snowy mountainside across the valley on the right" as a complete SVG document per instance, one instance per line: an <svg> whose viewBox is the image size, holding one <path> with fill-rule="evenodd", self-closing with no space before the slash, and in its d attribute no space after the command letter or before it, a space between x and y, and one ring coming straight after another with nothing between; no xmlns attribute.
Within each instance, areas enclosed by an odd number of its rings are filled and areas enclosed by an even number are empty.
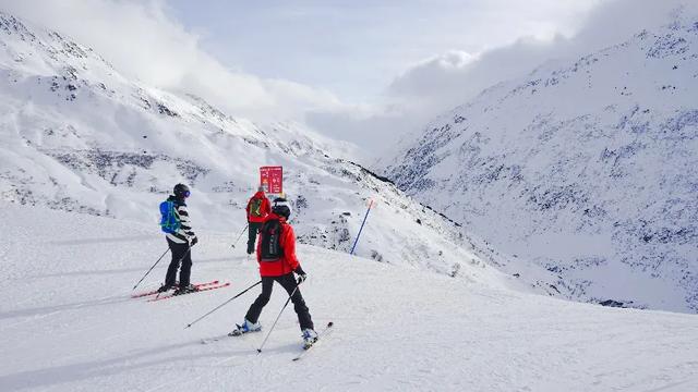
<svg viewBox="0 0 698 392"><path fill-rule="evenodd" d="M698 311L698 12L501 83L387 166L551 295Z"/></svg>

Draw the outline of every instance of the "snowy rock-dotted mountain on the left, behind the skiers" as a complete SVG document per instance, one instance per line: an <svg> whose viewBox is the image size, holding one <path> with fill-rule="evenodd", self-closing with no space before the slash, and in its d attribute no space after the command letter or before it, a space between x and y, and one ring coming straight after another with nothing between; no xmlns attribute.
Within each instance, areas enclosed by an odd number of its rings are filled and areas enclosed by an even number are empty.
<svg viewBox="0 0 698 392"><path fill-rule="evenodd" d="M280 164L301 242L348 250L372 198L359 255L496 274L453 222L333 158L336 143L128 79L92 49L9 14L0 14L0 140L7 201L149 222L157 232L158 203L184 182L194 229L228 231L232 242L258 168Z"/></svg>

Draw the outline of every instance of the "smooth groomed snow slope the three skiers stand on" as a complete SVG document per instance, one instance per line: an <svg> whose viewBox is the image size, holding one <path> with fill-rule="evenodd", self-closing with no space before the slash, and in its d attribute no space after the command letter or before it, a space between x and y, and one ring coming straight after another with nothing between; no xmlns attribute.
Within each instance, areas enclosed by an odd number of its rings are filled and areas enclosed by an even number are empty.
<svg viewBox="0 0 698 392"><path fill-rule="evenodd" d="M298 249L303 296L334 333L298 363L292 307L263 334L224 339L258 290L226 235L203 232L194 281L228 289L148 303L130 287L165 248L152 226L2 204L2 391L695 391L698 319L615 309ZM144 282L155 287L157 267ZM285 302L277 286L261 322Z"/></svg>

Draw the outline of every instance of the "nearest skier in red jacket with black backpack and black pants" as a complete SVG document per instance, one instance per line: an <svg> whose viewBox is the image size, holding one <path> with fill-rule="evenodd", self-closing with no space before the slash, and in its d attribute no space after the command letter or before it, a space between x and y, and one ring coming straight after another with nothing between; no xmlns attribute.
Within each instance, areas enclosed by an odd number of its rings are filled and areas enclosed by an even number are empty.
<svg viewBox="0 0 698 392"><path fill-rule="evenodd" d="M290 215L291 208L286 199L277 198L274 200L272 213L266 217L260 230L260 242L257 244L262 294L250 306L244 317L244 322L241 326L237 326L230 332L230 335L237 336L262 330L262 326L257 320L262 309L269 302L272 289L276 281L291 296L291 302L293 302L293 308L303 332L305 346L310 346L317 340L317 333L313 329L313 320L299 287L306 275L296 257L296 234L293 233L293 228L287 222ZM298 281L296 281L293 272L299 275Z"/></svg>

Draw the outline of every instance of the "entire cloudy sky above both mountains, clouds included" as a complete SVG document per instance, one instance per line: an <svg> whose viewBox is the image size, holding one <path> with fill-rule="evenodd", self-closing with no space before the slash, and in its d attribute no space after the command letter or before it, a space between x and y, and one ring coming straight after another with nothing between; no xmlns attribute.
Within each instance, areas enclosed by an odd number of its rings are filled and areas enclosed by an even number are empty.
<svg viewBox="0 0 698 392"><path fill-rule="evenodd" d="M688 0L684 0L688 1ZM371 162L430 119L681 0L0 0L127 76L234 117L294 121Z"/></svg>

